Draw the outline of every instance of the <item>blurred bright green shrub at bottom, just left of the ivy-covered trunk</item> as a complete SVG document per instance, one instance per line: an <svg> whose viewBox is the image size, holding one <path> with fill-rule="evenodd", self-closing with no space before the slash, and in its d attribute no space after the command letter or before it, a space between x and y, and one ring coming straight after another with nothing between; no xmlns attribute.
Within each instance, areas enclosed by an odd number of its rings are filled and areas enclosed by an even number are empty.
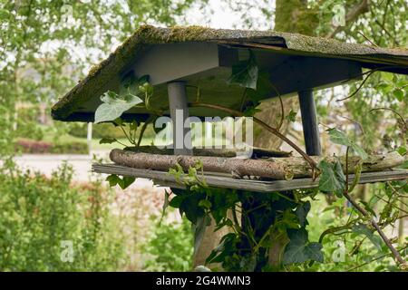
<svg viewBox="0 0 408 290"><path fill-rule="evenodd" d="M167 211L170 211L168 208ZM187 218L181 222L156 223L152 236L143 247L148 256L147 271L190 271L192 269L193 235Z"/></svg>

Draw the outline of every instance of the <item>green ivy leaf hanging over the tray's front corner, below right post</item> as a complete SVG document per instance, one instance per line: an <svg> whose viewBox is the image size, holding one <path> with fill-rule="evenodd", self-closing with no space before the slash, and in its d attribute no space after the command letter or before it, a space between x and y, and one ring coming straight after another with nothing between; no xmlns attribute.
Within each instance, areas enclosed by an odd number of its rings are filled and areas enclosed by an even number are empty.
<svg viewBox="0 0 408 290"><path fill-rule="evenodd" d="M323 192L335 192L335 195L341 198L345 191L345 174L340 162L337 160L331 163L321 160L318 168L322 170L319 189Z"/></svg>

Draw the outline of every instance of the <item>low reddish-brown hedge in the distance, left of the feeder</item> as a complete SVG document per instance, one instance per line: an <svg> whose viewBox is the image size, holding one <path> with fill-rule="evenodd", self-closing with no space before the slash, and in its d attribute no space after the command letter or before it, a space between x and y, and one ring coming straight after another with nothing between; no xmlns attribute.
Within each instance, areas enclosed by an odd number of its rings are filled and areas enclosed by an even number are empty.
<svg viewBox="0 0 408 290"><path fill-rule="evenodd" d="M16 150L31 154L88 154L88 144L85 142L66 142L53 144L52 142L19 139L15 143Z"/></svg>

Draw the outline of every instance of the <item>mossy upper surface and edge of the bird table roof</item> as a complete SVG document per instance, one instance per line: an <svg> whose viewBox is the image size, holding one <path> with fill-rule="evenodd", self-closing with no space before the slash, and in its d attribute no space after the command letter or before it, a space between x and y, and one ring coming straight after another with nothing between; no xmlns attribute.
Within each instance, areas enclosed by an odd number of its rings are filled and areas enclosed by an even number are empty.
<svg viewBox="0 0 408 290"><path fill-rule="evenodd" d="M180 42L267 43L293 51L316 56L348 58L365 63L395 63L408 68L408 50L384 49L355 43L341 43L334 39L274 31L211 29L201 26L158 28L141 26L114 53L92 66L88 75L66 93L52 109L53 118L64 120L83 102L102 94L102 87L134 62L141 50L149 44ZM272 44L271 44L272 43Z"/></svg>

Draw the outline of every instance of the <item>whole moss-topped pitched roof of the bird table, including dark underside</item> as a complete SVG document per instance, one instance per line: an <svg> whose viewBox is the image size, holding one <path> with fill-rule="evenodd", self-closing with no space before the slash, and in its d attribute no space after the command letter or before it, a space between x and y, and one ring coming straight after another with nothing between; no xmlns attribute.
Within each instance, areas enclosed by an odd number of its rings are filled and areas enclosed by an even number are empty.
<svg viewBox="0 0 408 290"><path fill-rule="evenodd" d="M119 90L124 76L148 74L154 86L152 103L168 104L167 82L185 81L189 99L200 98L238 109L244 88L228 85L231 67L254 53L259 69L275 86L264 98L334 86L361 79L362 69L408 74L408 51L385 49L333 39L273 31L210 29L189 26L141 26L107 59L57 102L53 119L93 121L104 92ZM191 108L190 115L222 117L219 111ZM125 119L145 119L148 111L131 109Z"/></svg>

